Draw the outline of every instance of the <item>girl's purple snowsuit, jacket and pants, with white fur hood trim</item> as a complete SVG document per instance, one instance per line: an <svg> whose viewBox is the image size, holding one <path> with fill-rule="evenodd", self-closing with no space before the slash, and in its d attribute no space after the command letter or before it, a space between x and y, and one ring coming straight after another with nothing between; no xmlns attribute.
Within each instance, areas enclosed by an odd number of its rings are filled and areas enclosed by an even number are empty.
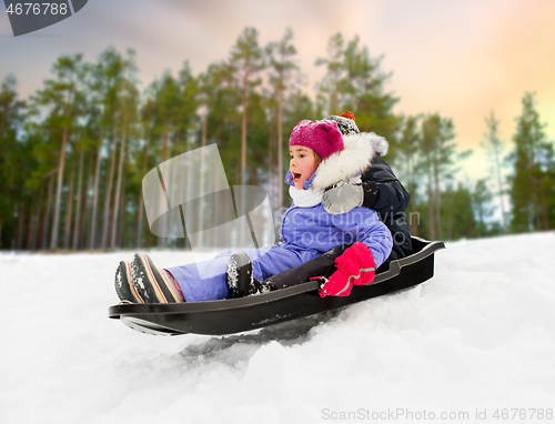
<svg viewBox="0 0 555 424"><path fill-rule="evenodd" d="M369 166L374 149L366 140L344 137L344 144L343 151L332 154L320 164L311 180L305 182L305 189L323 191L341 181L349 181ZM285 182L294 185L290 174ZM260 251L244 251L252 260L255 279L265 280L300 266L340 244L356 241L369 246L377 267L390 255L393 246L391 232L375 211L355 208L332 215L321 202L312 206L293 203L283 215L281 238L279 244ZM168 269L180 284L186 302L229 297L225 271L233 252L226 250L210 261Z"/></svg>

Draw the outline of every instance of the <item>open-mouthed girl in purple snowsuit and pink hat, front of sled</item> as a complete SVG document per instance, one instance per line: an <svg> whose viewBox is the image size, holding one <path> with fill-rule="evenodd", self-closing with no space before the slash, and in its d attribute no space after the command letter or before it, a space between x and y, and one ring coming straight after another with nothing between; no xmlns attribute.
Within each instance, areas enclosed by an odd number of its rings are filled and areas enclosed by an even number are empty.
<svg viewBox="0 0 555 424"><path fill-rule="evenodd" d="M264 280L344 244L352 245L336 259L337 271L324 280L320 295L349 295L353 284L372 282L375 269L391 253L391 232L370 209L327 213L322 195L333 184L356 182L374 155L373 147L356 134L343 137L335 121L307 120L295 125L289 145L285 182L291 185L293 204L283 215L279 244L240 253L226 250L210 261L165 270L148 255L135 254L117 270L120 299L201 302L272 291L276 287Z"/></svg>

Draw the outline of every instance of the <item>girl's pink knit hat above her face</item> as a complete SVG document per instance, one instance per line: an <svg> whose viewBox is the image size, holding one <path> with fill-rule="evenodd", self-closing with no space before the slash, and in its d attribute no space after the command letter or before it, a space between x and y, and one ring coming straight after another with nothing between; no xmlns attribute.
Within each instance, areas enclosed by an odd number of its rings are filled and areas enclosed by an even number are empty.
<svg viewBox="0 0 555 424"><path fill-rule="evenodd" d="M310 148L324 160L343 150L343 137L335 121L303 120L295 125L291 133L289 147L292 145Z"/></svg>

